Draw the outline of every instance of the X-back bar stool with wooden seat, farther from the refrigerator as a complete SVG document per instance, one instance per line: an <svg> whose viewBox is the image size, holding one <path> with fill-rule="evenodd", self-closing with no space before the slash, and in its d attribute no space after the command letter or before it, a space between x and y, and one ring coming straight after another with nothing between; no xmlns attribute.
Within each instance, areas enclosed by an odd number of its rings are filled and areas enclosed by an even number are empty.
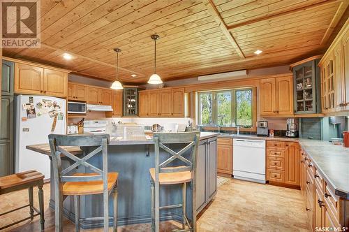
<svg viewBox="0 0 349 232"><path fill-rule="evenodd" d="M159 231L160 210L181 208L182 209L182 230L196 231L196 206L195 206L195 171L200 142L200 131L183 133L154 133L155 142L155 168L150 168L151 177L151 231ZM179 152L174 152L166 145L184 144ZM172 156L160 164L160 149ZM183 157L190 151L189 159ZM179 159L183 166L169 166L174 160ZM190 223L186 217L186 183L190 182L192 190L193 221ZM177 205L160 206L160 186L165 184L181 184L182 203ZM188 229L186 229L188 226Z"/></svg>

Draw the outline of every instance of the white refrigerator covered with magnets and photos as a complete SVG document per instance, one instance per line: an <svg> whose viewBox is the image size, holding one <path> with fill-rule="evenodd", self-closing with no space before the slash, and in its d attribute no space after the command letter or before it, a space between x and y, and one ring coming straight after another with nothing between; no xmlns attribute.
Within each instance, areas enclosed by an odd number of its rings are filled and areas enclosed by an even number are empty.
<svg viewBox="0 0 349 232"><path fill-rule="evenodd" d="M36 170L50 179L50 159L27 145L49 143L50 133L66 133L66 100L50 96L18 95L15 119L15 171Z"/></svg>

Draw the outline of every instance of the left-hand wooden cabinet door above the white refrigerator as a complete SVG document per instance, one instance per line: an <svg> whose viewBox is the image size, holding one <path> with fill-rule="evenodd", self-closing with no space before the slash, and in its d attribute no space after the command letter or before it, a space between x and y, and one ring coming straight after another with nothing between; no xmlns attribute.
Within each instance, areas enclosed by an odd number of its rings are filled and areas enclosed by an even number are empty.
<svg viewBox="0 0 349 232"><path fill-rule="evenodd" d="M15 93L43 94L43 75L43 68L15 63Z"/></svg>

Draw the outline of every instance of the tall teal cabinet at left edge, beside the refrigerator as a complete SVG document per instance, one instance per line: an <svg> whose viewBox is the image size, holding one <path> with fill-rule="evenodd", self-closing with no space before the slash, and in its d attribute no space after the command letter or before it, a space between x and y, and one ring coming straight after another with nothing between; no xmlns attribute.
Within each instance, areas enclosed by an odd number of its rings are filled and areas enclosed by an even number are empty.
<svg viewBox="0 0 349 232"><path fill-rule="evenodd" d="M0 115L0 176L14 173L13 154L13 75L14 64L2 61Z"/></svg>

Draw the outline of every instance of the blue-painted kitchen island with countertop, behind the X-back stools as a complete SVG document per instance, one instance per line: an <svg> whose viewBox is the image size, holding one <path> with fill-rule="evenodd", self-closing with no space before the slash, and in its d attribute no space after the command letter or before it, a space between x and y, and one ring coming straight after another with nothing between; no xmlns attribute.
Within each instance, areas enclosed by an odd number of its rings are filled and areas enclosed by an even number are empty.
<svg viewBox="0 0 349 232"><path fill-rule="evenodd" d="M198 163L196 171L196 205L200 212L216 194L216 150L218 133L200 133ZM176 146L172 149L176 150ZM179 148L179 146L178 146ZM48 144L29 145L27 149L50 155ZM85 152L94 150L94 147L68 147L69 152L83 157ZM168 154L161 152L165 160ZM185 156L184 156L185 157ZM89 163L101 166L101 156L89 159ZM69 166L71 160L63 157L63 167ZM133 139L110 138L108 145L108 171L118 172L118 224L140 224L151 222L150 215L150 177L149 168L154 168L154 141L146 136ZM52 168L51 168L52 170ZM89 172L84 166L77 168L77 172ZM51 177L53 178L53 173ZM53 180L51 180L53 183ZM50 207L54 208L54 186L51 185ZM187 188L187 212L191 212L191 187ZM180 185L162 186L160 193L161 205L173 205L181 202ZM161 210L161 220L181 221L180 209ZM64 216L74 221L73 198L64 201ZM102 195L82 196L81 217L100 217L103 215ZM112 216L112 199L110 199L110 216ZM188 219L192 215L188 213ZM110 221L110 225L112 222ZM82 220L83 229L103 226L103 220Z"/></svg>

